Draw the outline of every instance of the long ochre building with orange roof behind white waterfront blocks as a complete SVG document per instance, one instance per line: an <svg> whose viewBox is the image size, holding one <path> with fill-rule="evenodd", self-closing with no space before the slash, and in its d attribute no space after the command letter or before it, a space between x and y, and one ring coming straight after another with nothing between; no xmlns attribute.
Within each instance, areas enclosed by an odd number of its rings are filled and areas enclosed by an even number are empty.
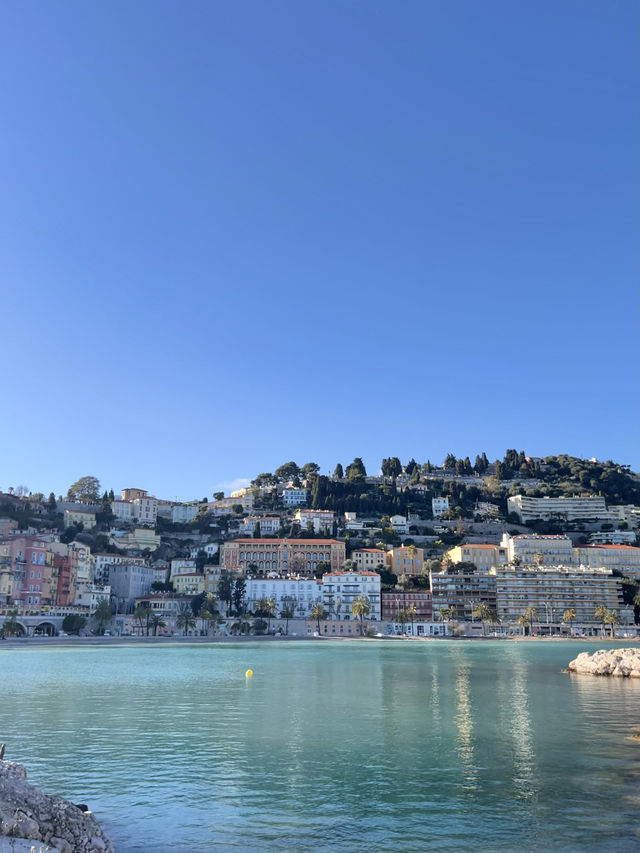
<svg viewBox="0 0 640 853"><path fill-rule="evenodd" d="M344 563L344 542L337 539L231 539L222 544L221 565L252 574L311 575L318 563L337 571Z"/></svg>

